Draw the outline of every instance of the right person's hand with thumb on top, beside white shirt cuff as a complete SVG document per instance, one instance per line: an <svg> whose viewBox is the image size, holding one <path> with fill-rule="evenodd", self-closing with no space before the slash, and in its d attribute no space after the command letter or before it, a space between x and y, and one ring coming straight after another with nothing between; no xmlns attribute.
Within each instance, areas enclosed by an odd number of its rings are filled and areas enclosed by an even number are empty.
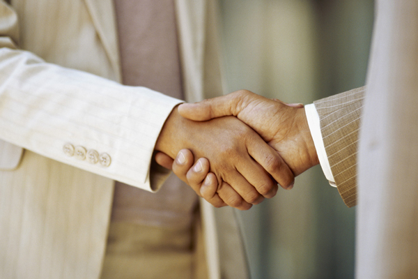
<svg viewBox="0 0 418 279"><path fill-rule="evenodd" d="M304 108L241 90L226 96L178 107L180 115L194 121L207 121L233 115L253 128L279 152L295 176L318 165Z"/></svg>

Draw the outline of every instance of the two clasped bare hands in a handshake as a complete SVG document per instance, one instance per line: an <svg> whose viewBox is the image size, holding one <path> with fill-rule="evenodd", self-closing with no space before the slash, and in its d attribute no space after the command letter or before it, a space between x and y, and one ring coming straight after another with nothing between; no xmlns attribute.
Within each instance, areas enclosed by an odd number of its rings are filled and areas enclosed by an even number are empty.
<svg viewBox="0 0 418 279"><path fill-rule="evenodd" d="M179 105L155 149L157 163L197 195L241 210L274 197L277 183L290 190L295 176L319 163L302 104L245 90Z"/></svg>

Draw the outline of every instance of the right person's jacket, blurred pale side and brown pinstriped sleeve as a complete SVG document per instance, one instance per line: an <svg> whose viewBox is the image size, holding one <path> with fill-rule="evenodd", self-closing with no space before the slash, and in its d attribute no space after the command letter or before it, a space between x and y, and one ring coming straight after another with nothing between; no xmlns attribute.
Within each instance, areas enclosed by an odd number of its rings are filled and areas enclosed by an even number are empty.
<svg viewBox="0 0 418 279"><path fill-rule="evenodd" d="M316 103L318 112L325 112L320 116L325 149L348 205L355 203L357 176L357 278L418 278L417 61L418 1L376 1L364 102L364 89L357 89ZM357 153L352 145L359 110ZM327 119L330 111L340 114L341 121ZM336 133L341 135L327 140ZM334 160L334 151L336 157L357 154L358 163L353 158ZM339 165L342 171L351 169L340 175Z"/></svg>

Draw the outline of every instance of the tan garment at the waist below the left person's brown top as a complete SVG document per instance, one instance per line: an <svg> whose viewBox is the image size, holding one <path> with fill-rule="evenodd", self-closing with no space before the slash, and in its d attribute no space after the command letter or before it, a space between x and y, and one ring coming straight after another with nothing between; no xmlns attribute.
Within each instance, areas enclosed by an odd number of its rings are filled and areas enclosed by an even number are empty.
<svg viewBox="0 0 418 279"><path fill-rule="evenodd" d="M201 222L195 213L192 229L111 223L100 278L208 278Z"/></svg>

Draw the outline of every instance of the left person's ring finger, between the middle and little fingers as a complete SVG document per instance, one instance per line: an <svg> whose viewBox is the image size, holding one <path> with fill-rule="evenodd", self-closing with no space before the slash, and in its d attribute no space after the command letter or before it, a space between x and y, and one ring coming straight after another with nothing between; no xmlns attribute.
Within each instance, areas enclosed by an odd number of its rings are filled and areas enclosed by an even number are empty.
<svg viewBox="0 0 418 279"><path fill-rule="evenodd" d="M249 160L251 160L251 158L249 158ZM266 176L268 177L267 174ZM245 177L237 170L232 170L225 174L224 181L227 181L228 186L233 188L233 190L238 193L238 195L240 195L245 202L249 204L259 204L263 201L263 196L258 193L256 188L254 188L254 186L252 186L251 183L249 183L247 179L245 179ZM224 202L228 204L226 200L224 200Z"/></svg>

